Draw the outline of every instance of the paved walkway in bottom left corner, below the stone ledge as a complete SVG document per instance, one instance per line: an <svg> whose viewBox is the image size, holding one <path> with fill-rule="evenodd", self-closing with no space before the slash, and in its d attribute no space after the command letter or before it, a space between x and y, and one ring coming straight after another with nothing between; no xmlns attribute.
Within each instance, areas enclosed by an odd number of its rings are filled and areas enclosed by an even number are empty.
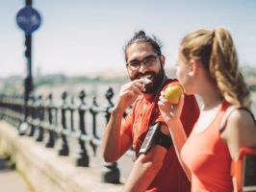
<svg viewBox="0 0 256 192"><path fill-rule="evenodd" d="M0 156L0 186L1 192L32 192L4 156Z"/></svg>

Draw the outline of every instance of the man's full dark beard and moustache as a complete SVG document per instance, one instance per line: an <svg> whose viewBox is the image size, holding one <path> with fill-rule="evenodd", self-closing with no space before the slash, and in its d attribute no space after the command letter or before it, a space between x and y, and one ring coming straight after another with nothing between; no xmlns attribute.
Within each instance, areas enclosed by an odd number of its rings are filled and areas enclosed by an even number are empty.
<svg viewBox="0 0 256 192"><path fill-rule="evenodd" d="M136 74L136 76L134 78L130 77L130 79L133 81L136 79L141 79L141 77L146 76L146 75L152 76L153 80L151 81L151 83L145 84L145 91L142 91L142 93L156 93L158 91L159 87L161 86L163 79L165 77L165 70L164 70L163 65L161 65L161 68L158 73L147 71L145 73L138 73L138 74Z"/></svg>

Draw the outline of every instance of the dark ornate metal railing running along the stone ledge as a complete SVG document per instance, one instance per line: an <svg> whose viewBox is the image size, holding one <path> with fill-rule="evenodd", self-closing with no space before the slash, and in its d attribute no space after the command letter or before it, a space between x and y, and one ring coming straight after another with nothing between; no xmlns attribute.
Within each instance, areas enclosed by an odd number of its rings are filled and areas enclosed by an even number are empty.
<svg viewBox="0 0 256 192"><path fill-rule="evenodd" d="M24 106L22 96L2 94L0 95L0 118L16 127L20 135L35 137L38 142L45 142L46 148L55 148L56 141L59 140L61 142L61 147L58 149L59 156L70 156L72 148L67 136L75 138L79 145L75 165L89 167L88 148L90 147L90 150L96 153L101 144L101 138L97 133L98 118L104 117L105 123L109 121L114 107L113 97L114 91L110 87L105 93L107 106L99 106L96 96L93 97L90 105L87 104L87 94L84 90L79 92L78 98L68 97L67 92L64 92L60 105L54 103L52 94L47 98L31 95L27 106ZM75 99L79 101L78 105L75 105ZM87 143L89 145L86 145ZM132 154L131 150L127 152L128 156ZM117 162L104 163L103 170L104 172L101 173L103 182L120 182Z"/></svg>

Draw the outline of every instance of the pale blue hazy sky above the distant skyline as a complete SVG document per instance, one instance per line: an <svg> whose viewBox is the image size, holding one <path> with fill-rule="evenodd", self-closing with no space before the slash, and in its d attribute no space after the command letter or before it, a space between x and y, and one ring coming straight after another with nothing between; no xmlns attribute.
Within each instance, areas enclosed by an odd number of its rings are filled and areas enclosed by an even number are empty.
<svg viewBox="0 0 256 192"><path fill-rule="evenodd" d="M0 0L0 78L26 76L24 33L15 22L25 0ZM173 67L180 40L223 26L240 64L256 66L256 0L33 0L42 17L33 33L33 75L93 76L126 71L123 47L139 30L163 44Z"/></svg>

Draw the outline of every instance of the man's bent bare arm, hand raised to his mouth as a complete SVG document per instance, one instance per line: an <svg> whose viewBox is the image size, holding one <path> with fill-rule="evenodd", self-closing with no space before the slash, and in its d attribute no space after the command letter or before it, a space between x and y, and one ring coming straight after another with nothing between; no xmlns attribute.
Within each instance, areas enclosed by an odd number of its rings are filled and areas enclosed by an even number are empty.
<svg viewBox="0 0 256 192"><path fill-rule="evenodd" d="M122 116L126 108L131 106L144 90L143 80L135 80L121 87L110 121L102 139L103 157L113 162L122 156L132 145L132 138L121 132Z"/></svg>

